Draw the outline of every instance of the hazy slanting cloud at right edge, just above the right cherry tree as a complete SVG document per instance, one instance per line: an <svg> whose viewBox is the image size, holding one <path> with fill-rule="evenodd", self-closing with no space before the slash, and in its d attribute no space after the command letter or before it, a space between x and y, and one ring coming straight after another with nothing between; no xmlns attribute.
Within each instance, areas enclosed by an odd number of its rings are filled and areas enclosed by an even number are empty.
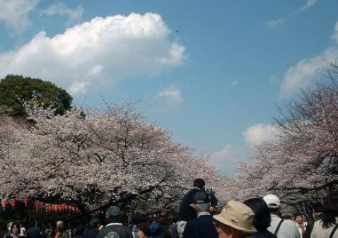
<svg viewBox="0 0 338 238"><path fill-rule="evenodd" d="M338 47L330 47L322 54L310 59L303 59L295 66L291 66L284 73L280 93L282 97L293 95L301 88L306 87L325 69L327 62L335 61L338 57Z"/></svg>

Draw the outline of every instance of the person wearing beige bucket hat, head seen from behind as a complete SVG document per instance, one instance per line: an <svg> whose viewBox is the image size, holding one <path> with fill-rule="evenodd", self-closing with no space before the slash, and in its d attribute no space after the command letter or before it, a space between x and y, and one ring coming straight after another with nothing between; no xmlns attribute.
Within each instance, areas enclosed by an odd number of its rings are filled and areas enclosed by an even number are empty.
<svg viewBox="0 0 338 238"><path fill-rule="evenodd" d="M255 213L245 204L228 201L220 214L214 215L219 238L243 238L257 232L252 222Z"/></svg>

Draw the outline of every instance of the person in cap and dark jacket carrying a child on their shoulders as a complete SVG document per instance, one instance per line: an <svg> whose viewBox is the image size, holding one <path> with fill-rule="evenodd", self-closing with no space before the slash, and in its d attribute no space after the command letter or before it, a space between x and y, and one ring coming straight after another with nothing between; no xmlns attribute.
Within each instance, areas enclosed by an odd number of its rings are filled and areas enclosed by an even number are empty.
<svg viewBox="0 0 338 238"><path fill-rule="evenodd" d="M209 199L203 191L194 194L193 208L197 213L197 218L187 222L183 238L218 238L214 219L209 213L209 206Z"/></svg>

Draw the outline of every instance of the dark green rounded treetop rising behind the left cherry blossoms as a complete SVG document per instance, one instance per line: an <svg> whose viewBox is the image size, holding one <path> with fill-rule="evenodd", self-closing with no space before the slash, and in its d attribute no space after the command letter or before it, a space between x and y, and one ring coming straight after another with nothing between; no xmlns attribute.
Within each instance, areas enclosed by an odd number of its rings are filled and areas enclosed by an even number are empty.
<svg viewBox="0 0 338 238"><path fill-rule="evenodd" d="M22 101L33 97L39 105L52 106L56 114L71 109L73 100L66 90L39 78L8 75L0 81L0 108L13 117L26 117Z"/></svg>

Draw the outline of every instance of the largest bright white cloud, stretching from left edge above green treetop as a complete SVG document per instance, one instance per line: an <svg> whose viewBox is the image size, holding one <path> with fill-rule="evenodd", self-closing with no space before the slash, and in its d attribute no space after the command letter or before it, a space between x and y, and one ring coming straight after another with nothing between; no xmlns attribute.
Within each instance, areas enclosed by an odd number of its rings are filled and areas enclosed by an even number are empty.
<svg viewBox="0 0 338 238"><path fill-rule="evenodd" d="M170 42L169 34L156 13L93 18L54 37L40 32L0 54L0 77L18 73L85 93L129 77L157 76L187 59L185 47Z"/></svg>

